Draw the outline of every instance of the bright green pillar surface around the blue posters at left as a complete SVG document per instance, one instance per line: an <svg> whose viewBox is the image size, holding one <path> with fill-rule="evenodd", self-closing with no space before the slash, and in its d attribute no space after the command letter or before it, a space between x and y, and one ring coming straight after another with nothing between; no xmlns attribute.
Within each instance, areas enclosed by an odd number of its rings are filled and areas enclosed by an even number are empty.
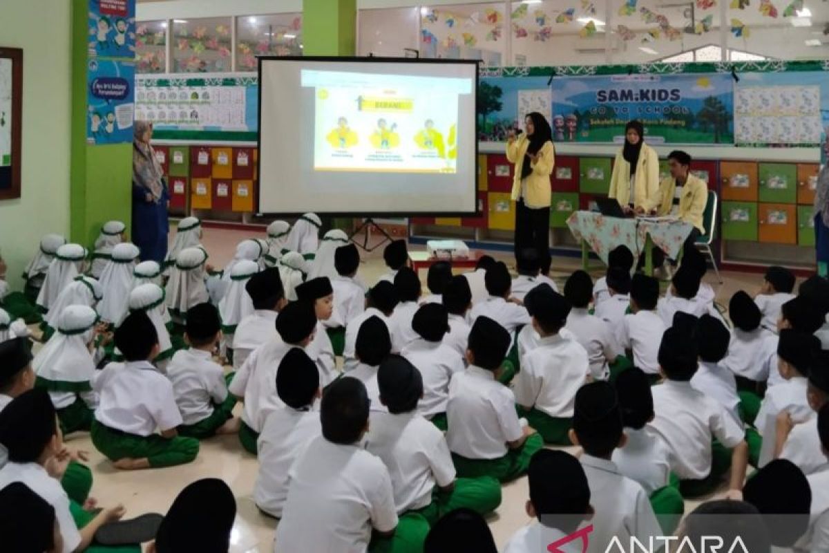
<svg viewBox="0 0 829 553"><path fill-rule="evenodd" d="M124 221L130 228L133 145L86 143L88 16L89 0L72 0L70 240L91 247L106 221Z"/></svg>

